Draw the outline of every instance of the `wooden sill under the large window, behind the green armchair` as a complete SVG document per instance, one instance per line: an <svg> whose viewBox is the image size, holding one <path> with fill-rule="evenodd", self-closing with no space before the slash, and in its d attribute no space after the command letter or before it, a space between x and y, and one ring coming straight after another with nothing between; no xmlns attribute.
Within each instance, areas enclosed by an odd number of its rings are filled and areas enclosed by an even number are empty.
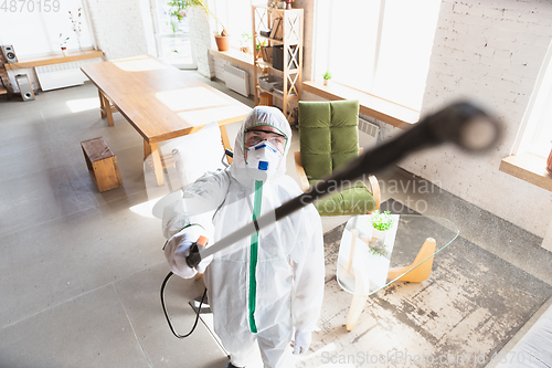
<svg viewBox="0 0 552 368"><path fill-rule="evenodd" d="M330 82L329 85L325 86L321 81L307 81L302 83L302 90L330 101L358 99L362 115L368 115L401 129L406 129L420 120L420 112L415 109L336 82Z"/></svg>

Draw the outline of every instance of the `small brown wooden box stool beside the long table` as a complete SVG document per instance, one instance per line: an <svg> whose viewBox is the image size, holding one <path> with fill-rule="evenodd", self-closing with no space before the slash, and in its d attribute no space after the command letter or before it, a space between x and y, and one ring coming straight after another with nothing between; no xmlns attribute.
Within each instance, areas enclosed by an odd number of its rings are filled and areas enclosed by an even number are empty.
<svg viewBox="0 0 552 368"><path fill-rule="evenodd" d="M102 137L81 141L81 147L92 178L100 192L123 186L117 157Z"/></svg>

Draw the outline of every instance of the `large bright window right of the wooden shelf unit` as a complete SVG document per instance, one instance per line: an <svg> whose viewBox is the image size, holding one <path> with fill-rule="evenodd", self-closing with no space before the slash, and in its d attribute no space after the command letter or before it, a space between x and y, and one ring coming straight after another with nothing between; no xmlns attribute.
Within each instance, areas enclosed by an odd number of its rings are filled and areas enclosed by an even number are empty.
<svg viewBox="0 0 552 368"><path fill-rule="evenodd" d="M440 0L319 0L315 73L420 111Z"/></svg>

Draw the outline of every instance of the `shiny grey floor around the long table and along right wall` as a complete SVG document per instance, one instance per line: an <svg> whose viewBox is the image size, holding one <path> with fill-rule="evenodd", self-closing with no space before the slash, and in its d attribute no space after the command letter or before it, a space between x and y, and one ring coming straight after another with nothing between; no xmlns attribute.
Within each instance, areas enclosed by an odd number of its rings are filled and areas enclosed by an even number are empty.
<svg viewBox="0 0 552 368"><path fill-rule="evenodd" d="M222 368L225 355L202 324L184 340L167 326L159 303L168 272L160 220L135 211L156 192L145 181L142 139L120 114L108 127L98 105L92 84L28 103L1 96L0 367ZM236 128L229 127L231 141ZM117 155L124 183L104 193L79 147L99 136ZM291 150L297 140L294 132ZM291 155L288 174L297 178ZM400 169L379 179L418 182ZM446 215L464 236L552 283L552 254L538 248L538 238L438 188L413 188L383 197L424 201L424 213ZM325 230L347 219L325 218ZM191 327L187 303L201 291L201 281L171 280L167 297L180 333Z"/></svg>

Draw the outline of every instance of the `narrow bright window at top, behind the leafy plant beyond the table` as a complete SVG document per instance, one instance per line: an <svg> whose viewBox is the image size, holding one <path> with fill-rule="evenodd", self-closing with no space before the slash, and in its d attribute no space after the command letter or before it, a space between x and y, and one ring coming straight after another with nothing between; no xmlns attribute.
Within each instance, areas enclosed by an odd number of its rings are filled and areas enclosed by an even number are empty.
<svg viewBox="0 0 552 368"><path fill-rule="evenodd" d="M167 63L180 69L195 69L195 56L190 39L189 18L178 20L170 14L169 0L153 0L153 27L157 53Z"/></svg>

